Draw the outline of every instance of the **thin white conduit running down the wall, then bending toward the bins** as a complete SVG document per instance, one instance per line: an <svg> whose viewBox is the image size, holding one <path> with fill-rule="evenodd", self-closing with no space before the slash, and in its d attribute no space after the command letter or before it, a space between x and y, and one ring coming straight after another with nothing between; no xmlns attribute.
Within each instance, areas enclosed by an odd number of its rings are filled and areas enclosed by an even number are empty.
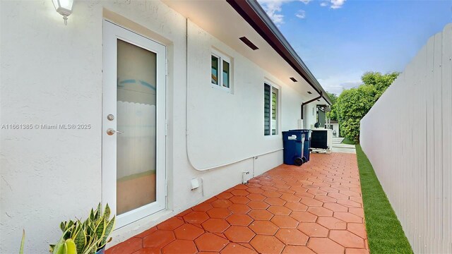
<svg viewBox="0 0 452 254"><path fill-rule="evenodd" d="M259 156L262 156L262 155L268 155L268 154L270 154L270 153L273 153L273 152L278 152L278 151L280 151L280 150L283 150L283 148L280 148L280 149L277 149L277 150L273 150L273 151L270 151L270 152L264 152L263 154L261 154L261 155L254 155L254 156L251 156L251 157L245 157L245 158L243 158L243 159L237 159L237 160L235 160L235 161L233 161L233 162L227 162L227 163L225 163L225 164L218 164L218 165L215 165L215 166L213 166L213 167L206 167L206 168L203 168L203 169L200 169L200 168L198 168L198 167L196 167L194 164L193 164L193 162L191 162L191 159L190 159L190 150L189 150L189 18L186 18L186 22L185 22L185 68L186 68L186 70L185 70L185 82L186 82L186 92L185 92L185 124L186 124L186 129L185 129L185 133L186 133L186 143L185 143L185 145L186 145L186 157L187 157L187 159L189 160L189 164L190 164L190 166L191 167L193 167L194 169L196 169L197 171L208 171L208 170L211 170L211 169L218 169L218 168L220 168L220 167L225 167L225 166L228 166L228 165L231 165L231 164L236 164L236 163L238 163L238 162L243 162L243 161L245 161L246 159L253 159L253 161L254 161L254 158L256 158L256 157L259 157ZM254 162L253 162L253 164L254 164Z"/></svg>

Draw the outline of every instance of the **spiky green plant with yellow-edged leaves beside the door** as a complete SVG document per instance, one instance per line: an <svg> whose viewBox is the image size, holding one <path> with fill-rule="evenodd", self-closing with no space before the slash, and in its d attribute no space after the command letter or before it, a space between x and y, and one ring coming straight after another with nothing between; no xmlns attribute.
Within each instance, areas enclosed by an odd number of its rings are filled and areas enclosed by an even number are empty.
<svg viewBox="0 0 452 254"><path fill-rule="evenodd" d="M108 238L114 228L114 219L109 219L110 208L105 206L102 213L102 206L97 205L97 209L91 209L90 215L84 222L77 219L75 222L61 222L60 228L63 235L57 244L50 246L52 254L104 254L105 245L112 241Z"/></svg>

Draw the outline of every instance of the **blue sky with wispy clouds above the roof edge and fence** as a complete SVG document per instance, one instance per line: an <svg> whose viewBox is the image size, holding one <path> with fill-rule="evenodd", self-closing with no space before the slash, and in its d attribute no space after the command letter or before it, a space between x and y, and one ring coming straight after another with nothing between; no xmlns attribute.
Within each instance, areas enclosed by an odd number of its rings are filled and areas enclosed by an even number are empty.
<svg viewBox="0 0 452 254"><path fill-rule="evenodd" d="M258 0L328 92L403 71L452 22L452 0Z"/></svg>

